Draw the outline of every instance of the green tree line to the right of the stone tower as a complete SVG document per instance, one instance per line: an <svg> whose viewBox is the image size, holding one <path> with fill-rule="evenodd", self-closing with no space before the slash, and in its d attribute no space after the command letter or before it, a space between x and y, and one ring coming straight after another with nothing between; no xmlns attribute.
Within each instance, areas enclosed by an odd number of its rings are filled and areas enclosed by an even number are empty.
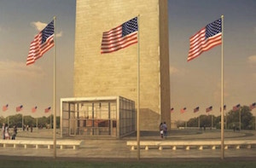
<svg viewBox="0 0 256 168"><path fill-rule="evenodd" d="M241 115L241 117L240 117ZM240 124L241 120L241 124ZM188 121L178 121L177 127L213 127L221 128L221 115L200 115L199 117L189 119ZM228 113L224 112L224 127L225 129L240 129L241 130L255 130L255 117L253 116L250 107L243 106L236 111L230 110Z"/></svg>

